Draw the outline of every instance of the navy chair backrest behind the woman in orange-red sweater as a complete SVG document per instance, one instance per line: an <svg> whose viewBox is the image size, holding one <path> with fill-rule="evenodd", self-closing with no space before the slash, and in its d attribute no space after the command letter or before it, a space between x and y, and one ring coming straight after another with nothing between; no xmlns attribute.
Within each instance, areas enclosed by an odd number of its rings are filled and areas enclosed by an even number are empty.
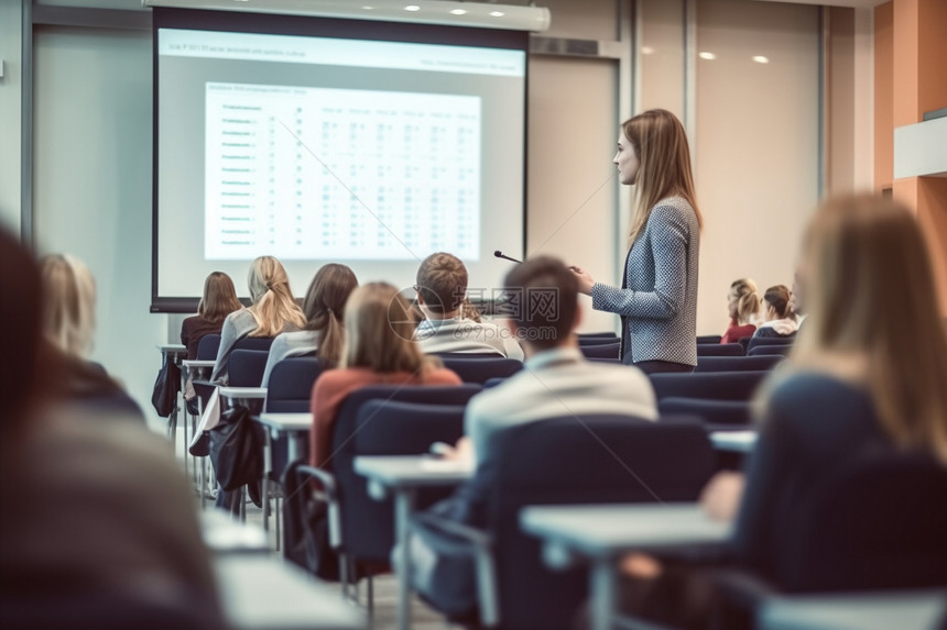
<svg viewBox="0 0 947 630"><path fill-rule="evenodd" d="M432 442L456 442L464 433L464 406L480 389L472 384L378 385L356 389L342 401L333 430L331 468L341 501L342 549L353 560L388 562L394 544L392 504L368 495L366 478L352 467L355 457L418 455ZM432 409L425 412L421 406ZM443 496L420 493L416 505Z"/></svg>

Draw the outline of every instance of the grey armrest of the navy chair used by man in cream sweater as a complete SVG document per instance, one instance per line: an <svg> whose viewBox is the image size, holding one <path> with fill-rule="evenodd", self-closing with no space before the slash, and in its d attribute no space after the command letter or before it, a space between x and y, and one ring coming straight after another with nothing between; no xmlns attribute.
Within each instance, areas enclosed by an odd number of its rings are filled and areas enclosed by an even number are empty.
<svg viewBox="0 0 947 630"><path fill-rule="evenodd" d="M444 555L472 555L477 563L477 592L480 603L480 625L487 628L500 621L500 598L497 594L497 565L493 559L493 538L487 532L429 513L415 515L412 529L417 526L459 538L449 541L428 537L427 543ZM407 550L405 550L407 553Z"/></svg>

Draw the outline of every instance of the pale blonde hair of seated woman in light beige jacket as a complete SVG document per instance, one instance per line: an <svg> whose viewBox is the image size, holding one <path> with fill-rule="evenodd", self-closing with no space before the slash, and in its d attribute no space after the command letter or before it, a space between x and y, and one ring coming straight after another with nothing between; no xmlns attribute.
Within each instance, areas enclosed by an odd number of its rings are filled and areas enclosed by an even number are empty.
<svg viewBox="0 0 947 630"><path fill-rule="evenodd" d="M247 284L253 300L249 310L257 320L257 330L250 336L276 336L286 323L300 329L306 325L306 317L293 298L290 278L280 261L273 256L253 261Z"/></svg>

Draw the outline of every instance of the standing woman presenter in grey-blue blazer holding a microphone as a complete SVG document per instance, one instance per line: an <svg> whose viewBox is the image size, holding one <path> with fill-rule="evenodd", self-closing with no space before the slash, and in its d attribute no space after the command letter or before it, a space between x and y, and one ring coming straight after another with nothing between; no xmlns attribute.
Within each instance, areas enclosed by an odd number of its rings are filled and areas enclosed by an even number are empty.
<svg viewBox="0 0 947 630"><path fill-rule="evenodd" d="M573 267L592 308L621 316L621 361L645 373L697 365L697 262L700 211L684 125L649 110L621 125L619 179L635 186L635 209L621 288Z"/></svg>

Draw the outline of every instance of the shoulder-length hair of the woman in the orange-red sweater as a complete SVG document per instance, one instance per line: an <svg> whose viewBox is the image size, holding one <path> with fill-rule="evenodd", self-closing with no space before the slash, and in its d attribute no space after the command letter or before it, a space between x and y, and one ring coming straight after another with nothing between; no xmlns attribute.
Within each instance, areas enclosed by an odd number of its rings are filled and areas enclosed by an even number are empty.
<svg viewBox="0 0 947 630"><path fill-rule="evenodd" d="M416 324L407 301L388 283L369 283L352 291L346 303L345 323L341 367L423 374L439 365L413 341Z"/></svg>

